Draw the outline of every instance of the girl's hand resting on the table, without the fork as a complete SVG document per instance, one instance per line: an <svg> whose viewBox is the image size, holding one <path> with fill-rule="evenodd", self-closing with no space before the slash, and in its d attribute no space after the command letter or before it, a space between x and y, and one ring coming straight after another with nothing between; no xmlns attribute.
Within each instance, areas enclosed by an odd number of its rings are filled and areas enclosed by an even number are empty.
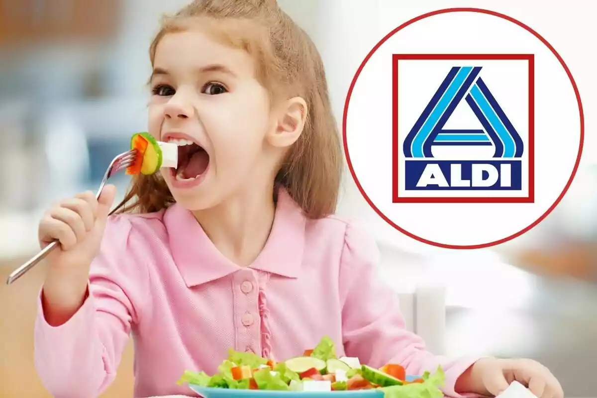
<svg viewBox="0 0 597 398"><path fill-rule="evenodd" d="M531 359L483 358L456 381L457 393L497 396L518 381L538 398L563 398L558 380L545 366Z"/></svg>

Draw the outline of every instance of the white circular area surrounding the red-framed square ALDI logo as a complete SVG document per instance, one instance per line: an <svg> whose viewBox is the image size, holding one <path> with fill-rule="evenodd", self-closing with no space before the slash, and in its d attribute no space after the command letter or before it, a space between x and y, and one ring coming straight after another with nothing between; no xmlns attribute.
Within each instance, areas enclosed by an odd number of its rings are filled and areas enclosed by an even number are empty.
<svg viewBox="0 0 597 398"><path fill-rule="evenodd" d="M534 203L392 203L392 54L534 54ZM397 226L440 245L486 245L533 224L564 190L580 145L562 64L532 33L489 14L438 14L399 30L364 65L347 106L347 156L368 198Z"/></svg>

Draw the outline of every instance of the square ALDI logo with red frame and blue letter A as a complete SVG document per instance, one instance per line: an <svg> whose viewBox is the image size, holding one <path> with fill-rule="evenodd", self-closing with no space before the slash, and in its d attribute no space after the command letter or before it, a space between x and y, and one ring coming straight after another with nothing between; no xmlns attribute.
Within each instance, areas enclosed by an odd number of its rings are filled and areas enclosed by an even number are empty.
<svg viewBox="0 0 597 398"><path fill-rule="evenodd" d="M533 54L394 54L393 94L394 203L534 201Z"/></svg>

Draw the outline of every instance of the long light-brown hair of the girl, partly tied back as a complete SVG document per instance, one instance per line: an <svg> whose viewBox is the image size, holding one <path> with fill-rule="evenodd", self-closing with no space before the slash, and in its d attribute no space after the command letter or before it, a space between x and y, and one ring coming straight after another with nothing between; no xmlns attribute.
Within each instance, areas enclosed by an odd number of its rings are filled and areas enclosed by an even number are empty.
<svg viewBox="0 0 597 398"><path fill-rule="evenodd" d="M324 65L309 36L275 0L195 0L162 21L149 48L152 65L159 41L193 24L200 24L224 44L251 54L257 64L256 78L273 101L304 98L308 112L303 133L288 152L275 182L287 190L306 217L333 214L343 169L340 135ZM159 173L139 175L115 211L155 212L174 202Z"/></svg>

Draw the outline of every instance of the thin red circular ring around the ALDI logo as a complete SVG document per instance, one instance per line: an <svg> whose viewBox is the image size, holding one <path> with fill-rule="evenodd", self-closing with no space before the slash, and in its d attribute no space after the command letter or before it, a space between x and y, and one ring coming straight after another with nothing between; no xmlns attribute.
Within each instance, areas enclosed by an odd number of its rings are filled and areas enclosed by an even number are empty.
<svg viewBox="0 0 597 398"><path fill-rule="evenodd" d="M564 186L564 190L562 190L562 193L558 196L558 199L556 199L556 201L553 202L553 204L549 207L549 209L547 209L546 212L544 212L541 215L541 217L537 218L537 220L534 221L534 223L531 223L529 226L527 226L526 228L522 229L521 231L519 231L517 233L514 233L513 235L504 237L503 239L494 240L493 242L488 242L488 243L481 243L481 244L478 244L478 245L448 245L446 243L439 243L439 242L434 242L432 240L424 239L423 237L414 235L413 233L410 233L407 230L399 227L396 223L394 223L392 220L390 220L388 217L386 217L386 215L384 215L383 212L381 212L381 210L378 209L376 205L374 205L374 203L371 201L371 199L367 196L367 193L365 193L365 190L361 186L361 183L359 183L359 180L358 180L358 178L356 177L356 174L355 174L355 170L352 167L352 162L350 161L350 155L349 155L349 151L348 151L348 144L347 144L347 140L346 140L346 119L347 119L347 115L348 115L348 106L349 106L349 103L350 103L350 97L352 95L352 91L355 88L356 81L358 80L359 75L361 75L361 72L362 72L363 68L365 67L365 64L367 64L367 62L369 61L369 59L371 58L371 56L373 56L373 54L376 53L376 51L378 50L378 48L380 48L381 45L383 45L389 38L391 38L397 32L399 32L400 30L404 29L405 27L407 27L407 26L409 26L409 25L411 25L411 24L413 24L413 23L415 23L417 21L423 20L425 18L433 17L433 16L436 16L436 15L448 14L448 13L460 13L460 12L487 14L487 15L491 15L491 16L494 16L494 17L502 18L504 20L510 21L512 23L515 23L516 25L518 25L518 26L522 27L523 29L527 30L527 32L531 33L537 39L539 39L547 48L549 48L549 50L553 53L553 55L555 55L555 57L558 58L559 63L562 65L562 67L564 67L564 70L565 70L566 74L568 75L568 79L570 79L570 82L571 82L572 87L574 89L574 94L576 95L576 100L578 102L578 112L580 114L580 144L578 145L578 155L576 157L576 162L574 163L574 168L572 170L572 174L570 175L570 178L568 179L568 182ZM553 46L551 44L549 44L549 42L547 42L547 40L545 38L543 38L543 36L541 36L535 30L531 29L531 27L525 25L521 21L516 20L515 18L506 16L506 15L501 14L501 13L497 13L496 11L485 10L483 8L466 8L466 7L465 8L444 8L442 10L436 10L436 11L431 11L429 13L422 14L422 15L420 15L418 17L415 17L415 18L412 18L411 20L406 21L405 23L403 23L400 26L396 27L396 29L392 30L392 32L390 32L386 36L384 36L384 38L381 39L375 45L375 47L373 47L373 49L371 51L369 51L369 53L367 54L367 56L365 57L365 59L362 61L361 65L359 65L359 68L356 70L356 73L355 73L355 76L352 79L352 82L350 82L350 87L349 87L348 93L346 95L346 101L344 102L344 114L343 114L343 118L342 118L342 138L343 138L343 141L344 141L344 155L346 156L346 162L348 163L348 168L350 170L350 174L352 175L352 178L355 181L356 186L358 187L359 191L361 192L361 195L363 196L363 198L365 198L365 200L367 200L367 203L371 206L371 208L373 208L374 211L384 221L386 221L386 223L390 224L390 226L394 227L399 232L402 232L404 235L407 235L407 236L409 236L409 237L411 237L411 238L413 238L415 240L418 240L419 242L427 243L427 245L432 245L432 246L436 246L436 247L439 247L439 248L445 248L445 249L482 249L482 248L488 248L488 247L491 247L491 246L499 245L500 243L507 242L509 240L514 239L515 237L521 236L522 234L530 231L535 226L537 226L538 223L540 223L541 221L543 221L543 219L545 217L547 217L547 215L549 215L550 212L553 211L553 209L556 208L556 206L559 204L559 202L561 202L562 198L564 198L564 195L566 195L566 193L568 192L568 189L570 188L570 185L572 184L572 181L574 180L574 177L576 176L576 172L578 170L578 165L580 164L580 158L581 158L581 155L583 153L583 144L584 144L584 113L583 113L583 104L582 104L582 101L580 99L580 92L578 91L578 87L576 85L576 81L574 81L572 73L570 72L570 69L568 69L567 64L564 62L564 59L562 59L561 55L558 54L558 51L556 51L555 48L553 48Z"/></svg>

